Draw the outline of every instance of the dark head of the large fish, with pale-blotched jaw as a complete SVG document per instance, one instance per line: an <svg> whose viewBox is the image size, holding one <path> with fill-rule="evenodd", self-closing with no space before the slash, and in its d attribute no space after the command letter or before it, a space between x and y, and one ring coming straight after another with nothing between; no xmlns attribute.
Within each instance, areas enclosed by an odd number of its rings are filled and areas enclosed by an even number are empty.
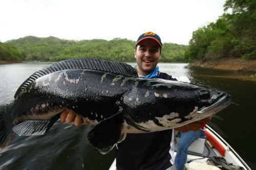
<svg viewBox="0 0 256 170"><path fill-rule="evenodd" d="M167 80L147 80L123 98L127 122L148 132L172 129L223 110L231 96L223 90Z"/></svg>

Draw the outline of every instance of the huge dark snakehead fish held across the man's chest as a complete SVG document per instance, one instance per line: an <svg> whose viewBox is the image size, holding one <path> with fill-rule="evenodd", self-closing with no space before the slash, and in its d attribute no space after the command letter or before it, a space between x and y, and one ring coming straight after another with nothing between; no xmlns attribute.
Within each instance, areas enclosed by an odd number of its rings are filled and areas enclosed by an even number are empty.
<svg viewBox="0 0 256 170"><path fill-rule="evenodd" d="M138 78L127 64L79 58L30 76L15 100L0 108L0 148L14 133L45 134L66 108L95 126L87 138L108 153L126 133L172 129L226 108L230 95L192 84Z"/></svg>

